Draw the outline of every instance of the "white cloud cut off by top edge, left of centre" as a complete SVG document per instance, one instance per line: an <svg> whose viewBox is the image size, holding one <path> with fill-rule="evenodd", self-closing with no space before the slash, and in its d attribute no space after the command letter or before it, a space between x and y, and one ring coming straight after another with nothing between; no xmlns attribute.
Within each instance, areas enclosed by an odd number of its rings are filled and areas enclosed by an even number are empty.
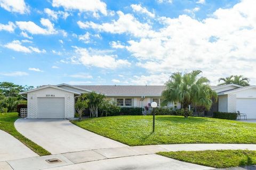
<svg viewBox="0 0 256 170"><path fill-rule="evenodd" d="M52 6L62 6L65 10L79 10L80 12L101 12L103 15L107 15L107 5L100 0L53 0Z"/></svg>

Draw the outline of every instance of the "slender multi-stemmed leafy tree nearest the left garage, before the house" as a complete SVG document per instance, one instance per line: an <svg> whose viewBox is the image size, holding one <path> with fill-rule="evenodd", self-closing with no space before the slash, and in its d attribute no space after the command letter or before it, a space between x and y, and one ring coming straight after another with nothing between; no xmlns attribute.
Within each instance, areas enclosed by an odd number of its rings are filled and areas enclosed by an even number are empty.
<svg viewBox="0 0 256 170"><path fill-rule="evenodd" d="M105 100L105 95L97 94L96 92L90 92L89 94L85 94L86 99L89 99L89 111L90 117L98 117L98 108Z"/></svg>

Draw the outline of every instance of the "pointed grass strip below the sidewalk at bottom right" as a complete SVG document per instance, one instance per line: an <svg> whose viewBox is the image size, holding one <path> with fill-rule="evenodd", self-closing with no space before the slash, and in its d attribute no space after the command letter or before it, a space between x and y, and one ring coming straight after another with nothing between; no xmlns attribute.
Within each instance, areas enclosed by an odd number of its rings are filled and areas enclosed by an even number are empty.
<svg viewBox="0 0 256 170"><path fill-rule="evenodd" d="M251 150L158 152L158 155L178 159L183 162L215 168L228 168L256 164L256 151Z"/></svg>

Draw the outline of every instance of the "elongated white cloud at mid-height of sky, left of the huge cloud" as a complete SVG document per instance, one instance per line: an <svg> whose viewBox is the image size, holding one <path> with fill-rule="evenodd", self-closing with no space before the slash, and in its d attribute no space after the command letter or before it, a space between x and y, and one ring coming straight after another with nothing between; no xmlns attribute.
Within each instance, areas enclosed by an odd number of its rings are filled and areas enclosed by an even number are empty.
<svg viewBox="0 0 256 170"><path fill-rule="evenodd" d="M71 58L71 63L94 66L104 69L116 69L118 67L129 67L131 63L127 60L117 59L116 55L102 54L97 50L75 47L76 56ZM63 61L65 62L65 61Z"/></svg>

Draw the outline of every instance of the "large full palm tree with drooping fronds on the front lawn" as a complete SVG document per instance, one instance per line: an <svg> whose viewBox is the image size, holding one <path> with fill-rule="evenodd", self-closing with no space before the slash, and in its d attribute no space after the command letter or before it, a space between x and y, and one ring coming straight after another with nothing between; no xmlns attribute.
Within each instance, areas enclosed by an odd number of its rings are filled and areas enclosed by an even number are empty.
<svg viewBox="0 0 256 170"><path fill-rule="evenodd" d="M218 96L209 84L210 81L205 77L199 77L202 71L195 70L190 73L173 73L167 81L166 90L162 92L163 105L169 102L179 102L187 111L190 104L203 106L206 110L212 106L212 99L217 100ZM186 116L185 116L186 117Z"/></svg>

